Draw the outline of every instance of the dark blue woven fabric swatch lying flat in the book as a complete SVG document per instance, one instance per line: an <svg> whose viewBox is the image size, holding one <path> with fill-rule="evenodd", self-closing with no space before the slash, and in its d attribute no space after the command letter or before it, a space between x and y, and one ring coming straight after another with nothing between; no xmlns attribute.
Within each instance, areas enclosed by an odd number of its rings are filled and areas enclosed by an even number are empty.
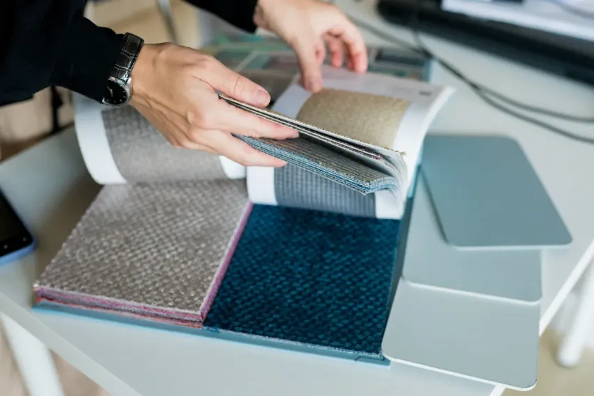
<svg viewBox="0 0 594 396"><path fill-rule="evenodd" d="M399 225L256 205L205 327L380 356Z"/></svg>

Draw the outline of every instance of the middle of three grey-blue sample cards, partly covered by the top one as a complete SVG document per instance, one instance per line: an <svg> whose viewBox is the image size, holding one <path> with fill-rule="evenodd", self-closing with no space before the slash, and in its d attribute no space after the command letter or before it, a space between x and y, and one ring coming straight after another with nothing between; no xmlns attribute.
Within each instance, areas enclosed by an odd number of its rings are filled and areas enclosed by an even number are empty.
<svg viewBox="0 0 594 396"><path fill-rule="evenodd" d="M542 297L539 249L458 249L440 231L424 177L419 178L404 254L403 279L419 286L514 299Z"/></svg>

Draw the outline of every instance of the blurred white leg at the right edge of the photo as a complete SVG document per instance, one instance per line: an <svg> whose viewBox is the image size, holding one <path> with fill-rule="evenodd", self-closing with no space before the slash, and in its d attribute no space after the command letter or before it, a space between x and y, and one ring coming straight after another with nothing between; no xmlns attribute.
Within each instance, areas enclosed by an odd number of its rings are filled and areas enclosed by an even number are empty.
<svg viewBox="0 0 594 396"><path fill-rule="evenodd" d="M573 367L579 363L588 336L594 331L594 265L591 264L584 275L584 283L579 290L574 320L561 340L557 352L557 363Z"/></svg>

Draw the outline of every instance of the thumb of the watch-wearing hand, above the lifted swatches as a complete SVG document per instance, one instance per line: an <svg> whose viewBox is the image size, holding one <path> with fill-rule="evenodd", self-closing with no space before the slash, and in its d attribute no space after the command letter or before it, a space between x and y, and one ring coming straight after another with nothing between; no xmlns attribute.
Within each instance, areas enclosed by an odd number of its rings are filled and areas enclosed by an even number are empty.
<svg viewBox="0 0 594 396"><path fill-rule="evenodd" d="M209 60L209 65L204 67L205 83L212 88L223 92L229 97L251 104L252 106L266 107L270 103L270 94L257 83L246 79L241 74L225 67L218 60Z"/></svg>

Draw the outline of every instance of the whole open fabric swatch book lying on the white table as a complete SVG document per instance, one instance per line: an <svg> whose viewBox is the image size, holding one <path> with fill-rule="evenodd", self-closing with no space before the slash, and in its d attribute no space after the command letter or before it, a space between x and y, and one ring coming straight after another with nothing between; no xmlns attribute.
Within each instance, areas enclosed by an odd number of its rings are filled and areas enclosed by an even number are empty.
<svg viewBox="0 0 594 396"><path fill-rule="evenodd" d="M241 137L289 163L248 169L172 147L134 108L75 97L81 154L104 186L35 307L385 363L406 195L449 93L325 68L321 92L291 84L271 110L226 98L300 130Z"/></svg>

